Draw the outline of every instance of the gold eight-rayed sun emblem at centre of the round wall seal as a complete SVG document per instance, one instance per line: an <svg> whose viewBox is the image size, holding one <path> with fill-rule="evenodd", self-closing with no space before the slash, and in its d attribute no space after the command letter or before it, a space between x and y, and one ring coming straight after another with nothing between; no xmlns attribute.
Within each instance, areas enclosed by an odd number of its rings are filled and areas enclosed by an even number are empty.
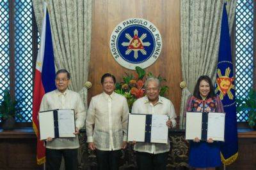
<svg viewBox="0 0 256 170"><path fill-rule="evenodd" d="M147 37L147 34L142 34L141 37L138 37L137 29L133 32L133 38L130 34L125 34L125 37L129 39L129 42L123 42L122 46L128 46L127 50L125 51L126 55L129 55L131 51L134 51L134 59L138 59L138 51L140 51L143 55L146 55L147 52L144 50L144 46L150 46L149 42L143 42L143 39Z"/></svg>

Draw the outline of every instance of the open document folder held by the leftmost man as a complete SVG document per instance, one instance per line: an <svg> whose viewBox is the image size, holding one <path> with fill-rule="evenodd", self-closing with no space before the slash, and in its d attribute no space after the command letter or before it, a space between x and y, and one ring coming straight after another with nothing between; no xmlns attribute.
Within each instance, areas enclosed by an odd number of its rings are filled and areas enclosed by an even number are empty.
<svg viewBox="0 0 256 170"><path fill-rule="evenodd" d="M50 110L39 112L40 140L76 137L74 110Z"/></svg>

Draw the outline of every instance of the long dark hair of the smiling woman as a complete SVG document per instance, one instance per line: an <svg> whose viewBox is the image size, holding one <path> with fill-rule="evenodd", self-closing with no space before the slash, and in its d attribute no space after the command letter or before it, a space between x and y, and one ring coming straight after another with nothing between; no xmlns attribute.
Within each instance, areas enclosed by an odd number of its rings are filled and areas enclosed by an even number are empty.
<svg viewBox="0 0 256 170"><path fill-rule="evenodd" d="M209 97L215 97L216 94L214 93L214 88L213 88L213 85L212 85L212 80L211 78L209 78L209 76L207 75L204 75L204 76L200 76L198 78L198 80L196 81L196 85L195 85L195 89L194 89L194 93L193 93L193 96L195 96L197 99L202 99L202 97L200 96L200 91L199 91L199 85L200 85L200 82L204 80L206 81L207 83L209 83L209 86L210 86L210 92L207 96L207 98Z"/></svg>

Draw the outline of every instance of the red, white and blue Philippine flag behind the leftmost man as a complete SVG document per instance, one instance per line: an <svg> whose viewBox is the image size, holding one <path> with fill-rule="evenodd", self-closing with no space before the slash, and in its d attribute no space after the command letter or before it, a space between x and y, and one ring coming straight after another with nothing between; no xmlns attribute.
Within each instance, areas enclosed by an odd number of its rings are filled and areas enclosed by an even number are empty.
<svg viewBox="0 0 256 170"><path fill-rule="evenodd" d="M40 103L45 93L56 89L55 83L54 53L52 48L51 24L47 4L44 5L44 20L42 23L41 43L36 59L34 90L33 90L33 129L37 136L36 159L37 164L45 162L44 141L40 141L40 132L38 124L38 112Z"/></svg>

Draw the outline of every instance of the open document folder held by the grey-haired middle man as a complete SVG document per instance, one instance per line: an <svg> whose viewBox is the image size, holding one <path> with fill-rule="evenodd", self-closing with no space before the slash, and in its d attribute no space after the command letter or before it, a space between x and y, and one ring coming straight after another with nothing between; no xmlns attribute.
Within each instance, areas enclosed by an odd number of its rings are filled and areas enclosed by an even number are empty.
<svg viewBox="0 0 256 170"><path fill-rule="evenodd" d="M127 141L168 143L167 115L129 114Z"/></svg>

